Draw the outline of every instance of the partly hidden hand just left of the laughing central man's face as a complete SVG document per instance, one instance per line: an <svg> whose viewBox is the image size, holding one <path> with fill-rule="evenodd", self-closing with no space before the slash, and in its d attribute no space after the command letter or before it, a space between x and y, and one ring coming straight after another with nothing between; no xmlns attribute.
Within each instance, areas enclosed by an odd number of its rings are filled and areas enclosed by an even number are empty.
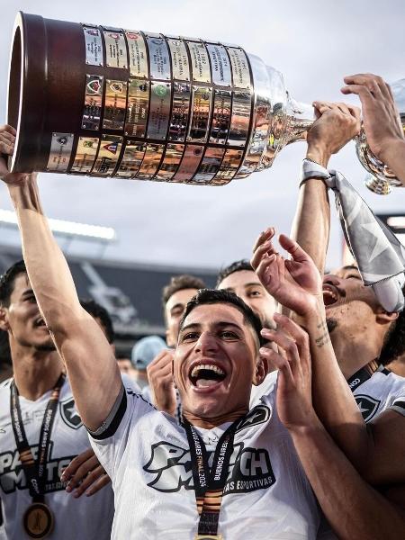
<svg viewBox="0 0 405 540"><path fill-rule="evenodd" d="M147 367L152 401L158 410L174 416L176 399L173 382L173 352L161 351Z"/></svg>

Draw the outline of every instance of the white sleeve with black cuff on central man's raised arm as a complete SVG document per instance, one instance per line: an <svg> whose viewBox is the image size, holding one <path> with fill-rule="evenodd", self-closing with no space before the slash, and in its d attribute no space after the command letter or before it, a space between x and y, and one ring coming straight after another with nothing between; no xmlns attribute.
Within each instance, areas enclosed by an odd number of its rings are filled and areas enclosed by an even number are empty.
<svg viewBox="0 0 405 540"><path fill-rule="evenodd" d="M95 431L87 430L94 453L110 478L114 478L131 430L136 428L139 419L148 414L157 414L155 407L139 392L122 384L107 419Z"/></svg>

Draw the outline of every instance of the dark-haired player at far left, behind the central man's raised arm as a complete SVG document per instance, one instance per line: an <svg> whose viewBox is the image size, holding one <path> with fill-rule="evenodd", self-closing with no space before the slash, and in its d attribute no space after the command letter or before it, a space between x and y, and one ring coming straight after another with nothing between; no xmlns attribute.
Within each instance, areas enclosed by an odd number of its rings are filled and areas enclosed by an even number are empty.
<svg viewBox="0 0 405 540"><path fill-rule="evenodd" d="M86 430L65 366L23 262L0 280L0 327L8 334L14 368L14 377L0 385L0 494L6 537L22 540L29 533L49 533L47 537L58 540L109 538L111 487L78 499L73 484L67 487L59 478L76 455L87 470L91 465L97 478L102 468L96 469L93 452L87 453ZM83 479L83 473L77 476ZM92 480L90 475L85 485Z"/></svg>

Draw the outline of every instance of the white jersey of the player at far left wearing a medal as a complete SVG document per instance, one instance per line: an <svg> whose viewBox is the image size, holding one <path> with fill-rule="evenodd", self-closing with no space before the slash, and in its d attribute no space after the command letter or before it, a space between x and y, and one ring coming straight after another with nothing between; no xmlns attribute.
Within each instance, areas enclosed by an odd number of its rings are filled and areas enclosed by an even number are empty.
<svg viewBox="0 0 405 540"><path fill-rule="evenodd" d="M28 539L23 530L23 514L32 500L15 445L10 415L11 379L0 385L0 499L4 529L8 540ZM40 427L50 393L37 401L20 396L20 406L27 440L37 457ZM60 390L57 414L49 441L45 503L55 518L49 540L107 540L113 518L113 492L106 486L92 497L75 499L60 482L61 469L89 447L87 431L75 409L67 381ZM1 538L1 533L0 533Z"/></svg>

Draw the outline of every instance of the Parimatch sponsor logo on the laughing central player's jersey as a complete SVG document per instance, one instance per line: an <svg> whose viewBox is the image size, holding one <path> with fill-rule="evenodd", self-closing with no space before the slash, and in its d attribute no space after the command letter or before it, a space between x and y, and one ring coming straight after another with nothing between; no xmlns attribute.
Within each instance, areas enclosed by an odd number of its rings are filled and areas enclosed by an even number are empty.
<svg viewBox="0 0 405 540"><path fill-rule="evenodd" d="M153 445L152 455L143 469L154 476L148 486L166 493L193 490L193 472L188 448L161 441ZM266 448L234 446L229 462L229 474L224 488L227 493L247 493L270 488L275 474Z"/></svg>

